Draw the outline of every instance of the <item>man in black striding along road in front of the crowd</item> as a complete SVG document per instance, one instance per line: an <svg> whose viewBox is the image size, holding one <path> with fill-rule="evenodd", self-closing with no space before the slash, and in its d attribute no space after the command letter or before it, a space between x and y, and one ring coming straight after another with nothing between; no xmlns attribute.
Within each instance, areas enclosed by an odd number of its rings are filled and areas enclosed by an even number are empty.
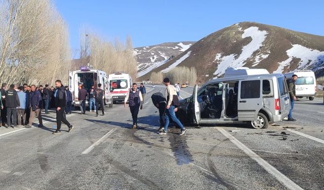
<svg viewBox="0 0 324 190"><path fill-rule="evenodd" d="M68 132L70 132L73 129L73 126L63 117L63 112L66 106L66 91L60 80L57 80L55 82L55 87L57 88L57 93L55 97L57 129L55 132L53 132L53 134L61 133L62 122L68 126Z"/></svg>

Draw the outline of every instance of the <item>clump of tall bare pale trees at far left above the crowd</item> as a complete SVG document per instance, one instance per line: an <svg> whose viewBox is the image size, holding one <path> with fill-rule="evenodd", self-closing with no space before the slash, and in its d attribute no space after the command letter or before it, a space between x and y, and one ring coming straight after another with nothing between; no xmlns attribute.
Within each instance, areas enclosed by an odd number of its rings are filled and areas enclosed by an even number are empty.
<svg viewBox="0 0 324 190"><path fill-rule="evenodd" d="M52 83L70 59L66 25L50 0L2 0L0 80Z"/></svg>

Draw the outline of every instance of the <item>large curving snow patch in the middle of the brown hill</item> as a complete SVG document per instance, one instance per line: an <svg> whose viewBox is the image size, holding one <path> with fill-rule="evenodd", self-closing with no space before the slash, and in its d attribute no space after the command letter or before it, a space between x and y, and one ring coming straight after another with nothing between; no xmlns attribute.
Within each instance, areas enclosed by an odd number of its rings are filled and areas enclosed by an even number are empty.
<svg viewBox="0 0 324 190"><path fill-rule="evenodd" d="M227 56L221 56L219 54L216 55L215 62L219 62L217 70L214 72L216 75L215 78L225 73L225 70L228 67L242 67L246 64L247 59L249 59L255 51L262 47L262 43L264 42L266 35L268 34L265 30L259 30L258 27L252 26L244 30L242 34L242 39L246 37L251 37L252 41L242 48L242 53L237 57L236 54L231 54Z"/></svg>

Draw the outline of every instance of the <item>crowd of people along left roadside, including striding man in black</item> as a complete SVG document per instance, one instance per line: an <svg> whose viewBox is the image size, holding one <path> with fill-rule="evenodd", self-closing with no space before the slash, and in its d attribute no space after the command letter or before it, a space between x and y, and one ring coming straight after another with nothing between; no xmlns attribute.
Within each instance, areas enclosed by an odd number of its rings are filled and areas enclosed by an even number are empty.
<svg viewBox="0 0 324 190"><path fill-rule="evenodd" d="M27 85L22 86L11 84L9 87L6 83L2 84L0 90L0 115L1 126L6 128L31 128L33 119L38 119L38 127L44 127L42 112L49 114L49 109L56 108L57 130L54 134L60 133L61 122L65 123L69 131L73 126L70 125L63 113L71 113L69 105L72 99L67 97L71 92L67 86L63 86L60 80L55 82L55 88L49 85ZM64 115L65 116L65 115Z"/></svg>

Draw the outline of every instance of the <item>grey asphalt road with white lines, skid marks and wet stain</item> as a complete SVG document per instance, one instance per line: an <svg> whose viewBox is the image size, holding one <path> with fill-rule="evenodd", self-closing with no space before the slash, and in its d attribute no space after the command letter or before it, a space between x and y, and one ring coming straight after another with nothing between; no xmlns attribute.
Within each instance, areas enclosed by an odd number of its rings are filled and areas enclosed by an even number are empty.
<svg viewBox="0 0 324 190"><path fill-rule="evenodd" d="M52 134L54 112L44 116L46 128L0 127L0 189L324 188L321 99L297 101L296 122L261 130L192 127L180 136L177 128L157 133L150 96L164 87L147 91L137 130L129 129L123 104L99 118L74 111L67 117L75 126L70 133L63 125L66 131ZM182 89L181 97L191 93L192 87Z"/></svg>

